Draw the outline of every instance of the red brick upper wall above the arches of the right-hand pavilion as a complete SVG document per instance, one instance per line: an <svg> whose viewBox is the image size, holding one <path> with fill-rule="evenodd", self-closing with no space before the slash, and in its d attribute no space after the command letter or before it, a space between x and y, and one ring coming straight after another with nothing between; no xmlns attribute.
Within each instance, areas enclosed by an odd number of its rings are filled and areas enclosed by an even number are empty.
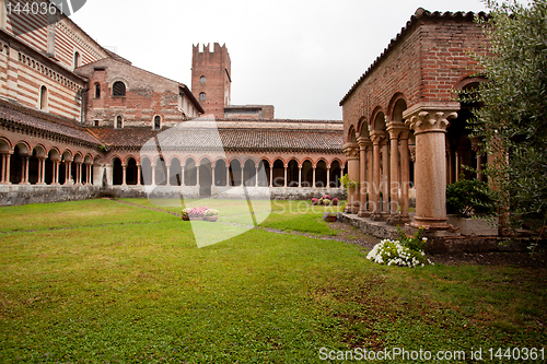
<svg viewBox="0 0 547 364"><path fill-rule="evenodd" d="M476 71L467 52L484 51L487 44L482 31L468 16L412 17L342 101L345 141L352 126L357 129L361 119L371 124L377 109L392 116L391 102L397 94L407 107L452 101L451 90Z"/></svg>

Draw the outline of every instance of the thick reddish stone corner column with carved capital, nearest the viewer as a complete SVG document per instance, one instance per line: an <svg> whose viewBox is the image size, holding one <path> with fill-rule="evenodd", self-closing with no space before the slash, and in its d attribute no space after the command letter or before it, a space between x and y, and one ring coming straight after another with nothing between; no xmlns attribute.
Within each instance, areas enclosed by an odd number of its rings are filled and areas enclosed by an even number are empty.
<svg viewBox="0 0 547 364"><path fill-rule="evenodd" d="M446 218L445 132L457 117L458 103L422 103L403 113L416 136L416 218L409 232L420 226L428 235L458 235Z"/></svg>

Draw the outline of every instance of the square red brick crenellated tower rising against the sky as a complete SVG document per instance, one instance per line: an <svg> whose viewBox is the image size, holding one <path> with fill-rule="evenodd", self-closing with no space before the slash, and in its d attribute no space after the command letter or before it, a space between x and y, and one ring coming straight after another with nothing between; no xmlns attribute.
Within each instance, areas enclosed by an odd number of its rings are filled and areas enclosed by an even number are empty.
<svg viewBox="0 0 547 364"><path fill-rule="evenodd" d="M218 43L212 51L209 44L200 51L199 43L193 46L191 93L199 99L205 115L224 117L224 106L230 105L231 61L228 48Z"/></svg>

